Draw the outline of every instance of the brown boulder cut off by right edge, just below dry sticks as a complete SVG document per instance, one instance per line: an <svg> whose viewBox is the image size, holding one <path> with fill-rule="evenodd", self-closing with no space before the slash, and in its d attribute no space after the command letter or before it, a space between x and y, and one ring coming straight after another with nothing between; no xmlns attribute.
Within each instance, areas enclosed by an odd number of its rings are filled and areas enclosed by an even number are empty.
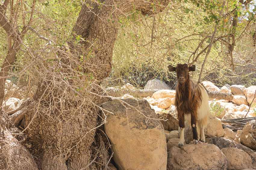
<svg viewBox="0 0 256 170"><path fill-rule="evenodd" d="M256 121L248 122L240 133L240 141L249 148L256 149Z"/></svg>

